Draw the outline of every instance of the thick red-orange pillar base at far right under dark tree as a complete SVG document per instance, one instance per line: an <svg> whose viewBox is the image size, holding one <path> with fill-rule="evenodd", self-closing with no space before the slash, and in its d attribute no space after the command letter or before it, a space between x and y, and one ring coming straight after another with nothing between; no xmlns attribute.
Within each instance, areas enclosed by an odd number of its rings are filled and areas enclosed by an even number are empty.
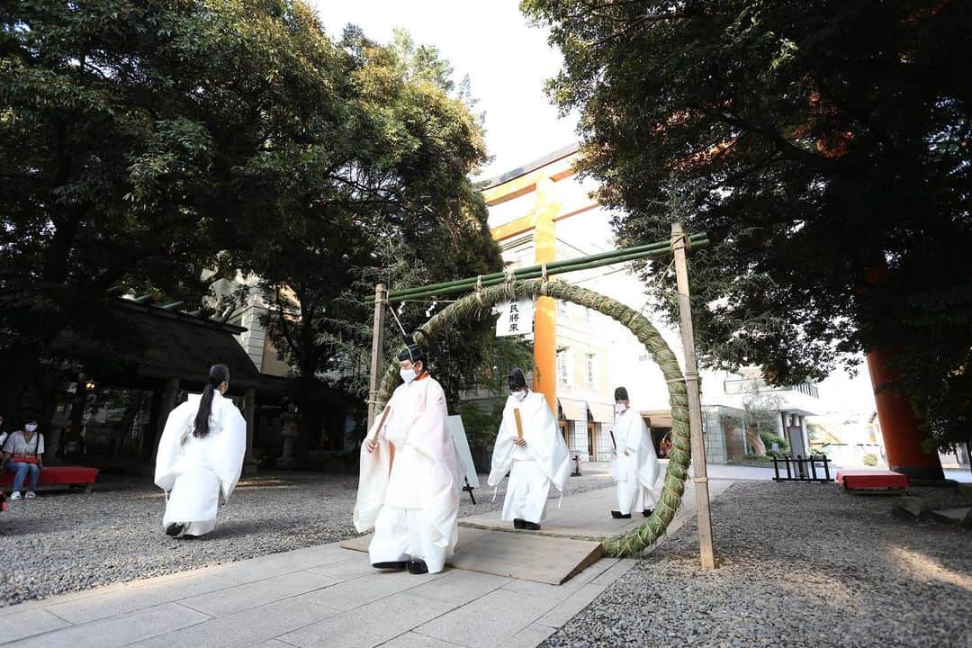
<svg viewBox="0 0 972 648"><path fill-rule="evenodd" d="M914 479L944 479L938 453L930 455L921 450L925 434L918 426L918 418L908 398L900 392L885 392L880 388L895 378L888 361L894 357L886 350L872 351L867 355L867 368L871 373L874 400L878 406L878 421L885 439L887 465L891 470Z"/></svg>

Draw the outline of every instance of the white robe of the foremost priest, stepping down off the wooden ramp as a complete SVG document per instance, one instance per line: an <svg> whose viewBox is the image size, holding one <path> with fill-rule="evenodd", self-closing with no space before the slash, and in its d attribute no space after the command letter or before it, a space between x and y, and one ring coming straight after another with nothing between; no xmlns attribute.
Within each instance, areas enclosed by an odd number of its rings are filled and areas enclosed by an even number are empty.
<svg viewBox="0 0 972 648"><path fill-rule="evenodd" d="M369 430L378 448L369 453L362 444L355 529L374 529L371 563L423 560L436 573L459 541L462 484L445 425L445 393L426 377L400 385L387 406L391 411L383 428L375 429L379 414Z"/></svg>

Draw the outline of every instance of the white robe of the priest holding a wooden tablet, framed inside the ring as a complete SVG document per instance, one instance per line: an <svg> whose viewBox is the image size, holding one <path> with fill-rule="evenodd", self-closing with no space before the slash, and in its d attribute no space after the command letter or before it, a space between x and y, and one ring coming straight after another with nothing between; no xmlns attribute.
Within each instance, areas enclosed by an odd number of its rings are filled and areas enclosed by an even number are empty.
<svg viewBox="0 0 972 648"><path fill-rule="evenodd" d="M523 438L527 442L522 448L513 443L516 438L513 410L517 408L520 410ZM546 515L551 484L563 493L571 471L571 454L567 443L541 393L528 392L522 401L514 395L506 398L503 423L493 447L489 485L499 485L507 471L509 483L501 518L539 524Z"/></svg>

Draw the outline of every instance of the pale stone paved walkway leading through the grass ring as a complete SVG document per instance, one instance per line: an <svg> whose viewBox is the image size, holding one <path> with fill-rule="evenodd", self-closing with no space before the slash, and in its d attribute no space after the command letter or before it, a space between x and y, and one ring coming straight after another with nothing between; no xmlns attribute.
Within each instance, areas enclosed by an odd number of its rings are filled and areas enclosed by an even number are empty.
<svg viewBox="0 0 972 648"><path fill-rule="evenodd" d="M730 483L714 483L713 496ZM575 495L576 506L608 511L613 489L597 493ZM689 489L670 530L693 515ZM460 569L376 572L366 555L330 543L2 608L0 644L532 647L635 563L602 559L553 586Z"/></svg>

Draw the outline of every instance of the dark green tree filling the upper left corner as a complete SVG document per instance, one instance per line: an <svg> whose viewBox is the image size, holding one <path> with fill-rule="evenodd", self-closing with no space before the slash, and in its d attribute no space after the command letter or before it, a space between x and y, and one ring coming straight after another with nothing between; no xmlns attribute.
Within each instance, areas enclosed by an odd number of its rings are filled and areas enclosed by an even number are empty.
<svg viewBox="0 0 972 648"><path fill-rule="evenodd" d="M238 170L297 74L259 30L279 4L0 7L0 353L15 401L27 382L50 394L65 360L111 358L124 336L109 290L206 290L202 268L259 195ZM66 329L100 346L53 352Z"/></svg>

